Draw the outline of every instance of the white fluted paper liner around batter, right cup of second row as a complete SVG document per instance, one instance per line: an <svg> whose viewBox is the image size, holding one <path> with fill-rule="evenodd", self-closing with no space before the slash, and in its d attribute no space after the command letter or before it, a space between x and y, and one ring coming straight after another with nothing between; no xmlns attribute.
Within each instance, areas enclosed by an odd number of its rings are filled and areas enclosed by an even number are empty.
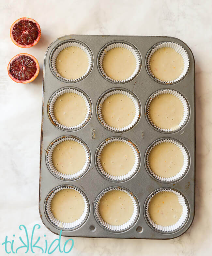
<svg viewBox="0 0 212 256"><path fill-rule="evenodd" d="M160 128L159 126L157 126L156 124L154 124L152 122L152 120L150 119L150 116L149 116L149 107L150 107L150 104L151 102L156 98L158 97L158 95L161 95L161 94L172 94L174 96L176 96L180 102L182 103L183 105L183 109L184 109L184 114L183 114L183 118L182 120L180 121L180 123L175 126L175 127L172 127L171 129L164 129L164 128ZM171 90L171 89L163 89L163 90L160 90L160 91L157 91L150 99L149 99L149 102L146 106L146 115L147 115L147 118L149 120L149 122L158 130L160 131L163 131L163 132L173 132L173 131L176 131L178 130L179 128L181 128L187 121L187 118L188 118L188 115L189 115L189 106L187 104L187 101L186 99L177 91L174 91L174 90Z"/></svg>

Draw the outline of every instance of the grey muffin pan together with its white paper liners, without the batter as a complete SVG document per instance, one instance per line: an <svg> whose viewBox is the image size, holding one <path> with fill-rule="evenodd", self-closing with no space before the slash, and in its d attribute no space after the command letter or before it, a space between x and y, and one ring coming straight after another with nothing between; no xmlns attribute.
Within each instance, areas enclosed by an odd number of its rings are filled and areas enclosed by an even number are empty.
<svg viewBox="0 0 212 256"><path fill-rule="evenodd" d="M66 47L84 51L88 68L78 79L66 79L57 72L56 57ZM123 80L110 78L102 60L110 49L122 47L135 57L134 72ZM150 70L150 56L161 47L173 48L184 60L184 70L173 81L161 81ZM66 92L83 98L87 107L84 120L75 126L61 124L54 116L56 99ZM178 127L164 129L149 116L151 101L161 94L173 94L184 107ZM135 106L135 118L125 127L109 126L101 115L107 97L128 96ZM54 148L63 141L79 143L85 164L74 174L64 174L53 165ZM99 161L100 152L111 142L126 143L135 163L129 173L114 176ZM160 177L149 165L150 152L162 142L176 145L183 155L183 167L177 175ZM51 211L54 195L63 189L77 191L83 198L82 216L65 223ZM100 216L98 205L110 191L122 191L133 203L133 215L124 225L110 225ZM148 207L152 197L169 191L178 197L182 216L175 225L160 226L151 219ZM40 146L39 212L44 225L53 233L72 237L170 239L186 232L195 211L195 63L189 47L181 40L158 36L68 35L55 40L47 49L43 70L43 109Z"/></svg>

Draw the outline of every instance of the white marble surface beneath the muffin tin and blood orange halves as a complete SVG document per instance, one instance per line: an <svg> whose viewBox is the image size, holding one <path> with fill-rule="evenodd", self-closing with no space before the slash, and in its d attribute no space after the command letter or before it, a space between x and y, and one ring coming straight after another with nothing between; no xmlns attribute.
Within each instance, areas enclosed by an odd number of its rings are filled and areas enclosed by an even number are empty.
<svg viewBox="0 0 212 256"><path fill-rule="evenodd" d="M44 227L38 213L42 72L48 45L67 34L164 35L185 41L196 61L194 222L188 232L166 241L74 238L70 255L211 255L211 0L3 0L0 10L0 242L3 243L6 235L12 239L15 234L18 238L20 224L31 231L38 223L41 228L35 237L46 234L48 241L57 238ZM11 24L20 17L37 20L42 30L39 43L26 50L15 46L9 37ZM22 52L36 56L40 64L38 78L27 85L13 82L7 74L10 58ZM40 244L44 245L44 240ZM24 255L21 251L19 254ZM7 255L3 246L0 255ZM28 255L40 254L37 250Z"/></svg>

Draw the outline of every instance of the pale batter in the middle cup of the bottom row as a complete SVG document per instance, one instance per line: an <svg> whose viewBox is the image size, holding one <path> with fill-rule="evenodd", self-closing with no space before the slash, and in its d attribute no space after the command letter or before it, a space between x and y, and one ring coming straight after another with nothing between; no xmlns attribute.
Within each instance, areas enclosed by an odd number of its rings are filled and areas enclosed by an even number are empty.
<svg viewBox="0 0 212 256"><path fill-rule="evenodd" d="M120 190L107 192L99 202L99 213L111 225L122 225L133 214L133 202L128 194Z"/></svg>

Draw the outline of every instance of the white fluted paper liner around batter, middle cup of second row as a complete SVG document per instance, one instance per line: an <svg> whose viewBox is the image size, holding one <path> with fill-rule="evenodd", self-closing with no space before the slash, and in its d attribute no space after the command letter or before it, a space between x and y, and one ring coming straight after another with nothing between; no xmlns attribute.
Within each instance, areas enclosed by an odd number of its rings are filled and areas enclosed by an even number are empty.
<svg viewBox="0 0 212 256"><path fill-rule="evenodd" d="M135 117L134 119L131 121L131 123L129 123L127 126L125 127L122 127L122 128L115 128L115 127L112 127L110 126L109 124L107 124L103 117L102 117L102 114L101 114L101 108L102 108L102 104L103 102L111 95L114 95L114 94L123 94L123 95L126 95L127 97L129 97L132 102L134 103L134 106L135 106ZM124 90L113 90L113 91L109 91L108 93L106 93L100 100L99 104L98 104L98 118L100 120L100 122L109 130L112 130L112 131L116 131L116 132L123 132L123 131L127 131L129 130L130 128L132 128L138 121L139 119L139 116L140 116L140 107L139 107L139 104L138 104L138 101L137 99L132 95L130 94L128 91L124 91Z"/></svg>

